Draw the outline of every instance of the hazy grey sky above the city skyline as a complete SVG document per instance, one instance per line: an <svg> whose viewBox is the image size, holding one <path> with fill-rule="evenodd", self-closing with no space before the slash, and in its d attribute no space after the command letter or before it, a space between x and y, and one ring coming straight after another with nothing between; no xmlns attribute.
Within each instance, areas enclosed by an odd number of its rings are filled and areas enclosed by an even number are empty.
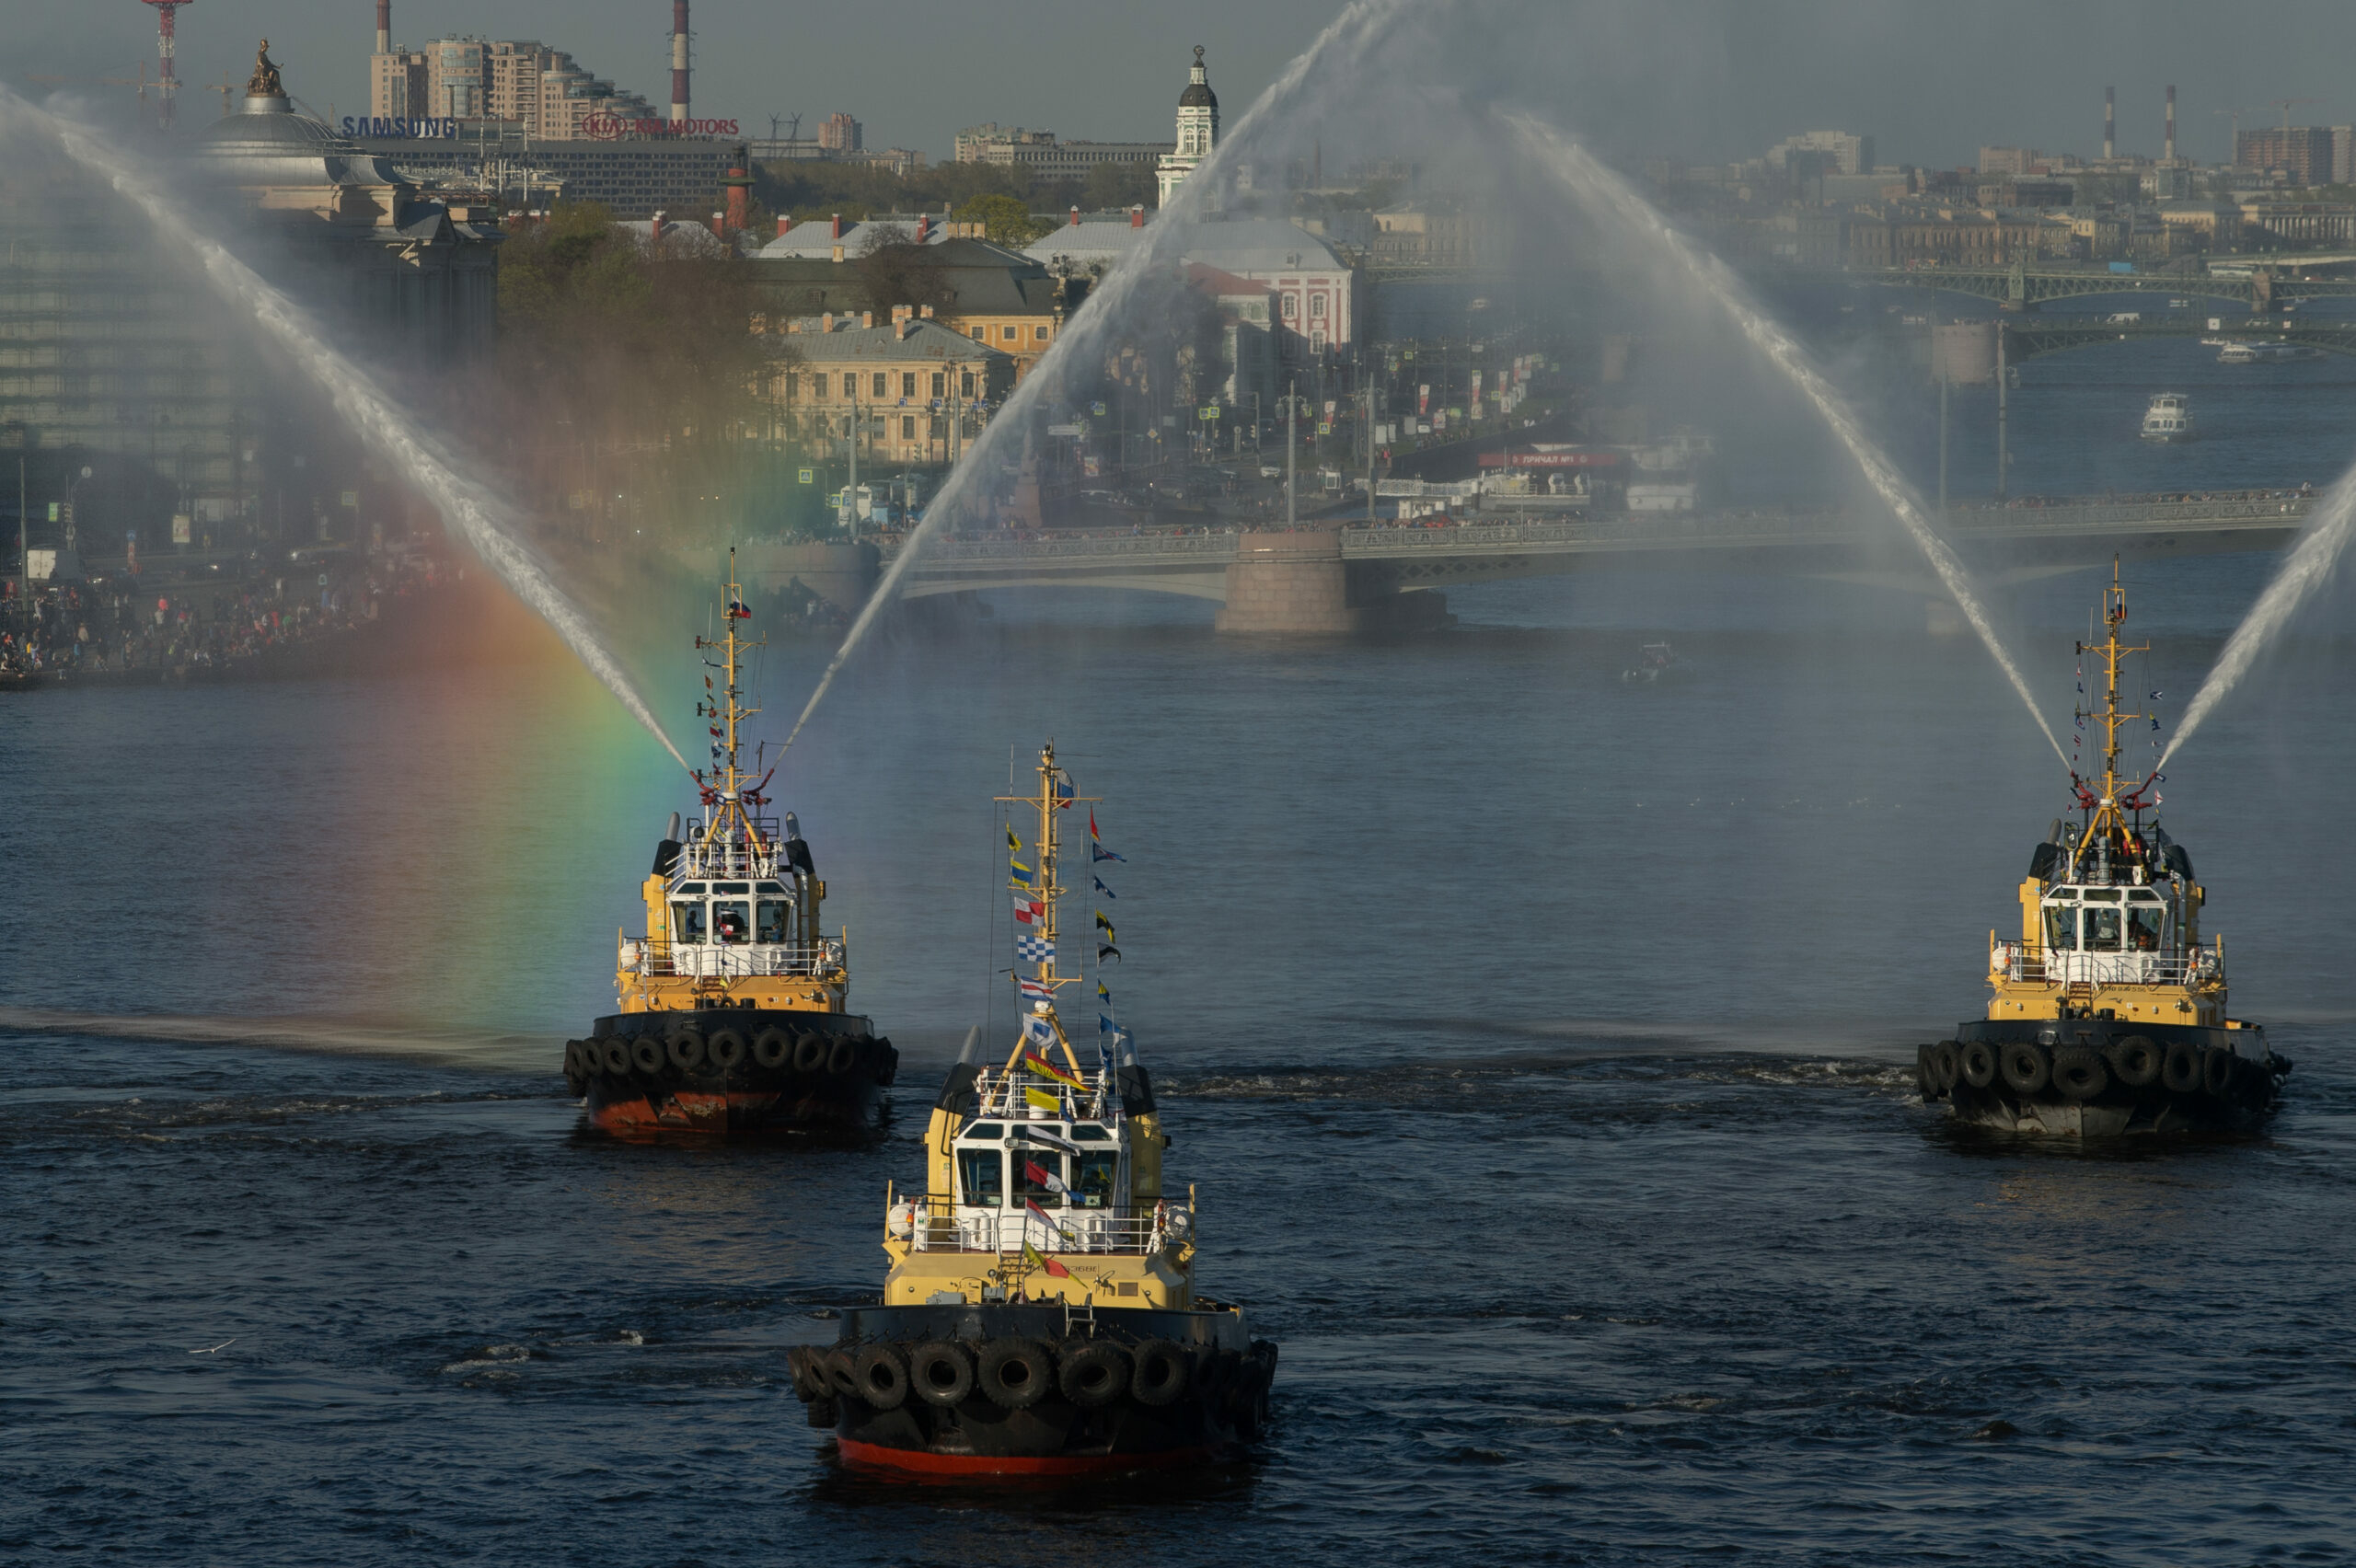
<svg viewBox="0 0 2356 1568"><path fill-rule="evenodd" d="M1428 7L1442 0L1425 0ZM1230 115L1333 14L1336 0L695 0L695 111L766 134L770 113L848 108L869 146L949 155L978 120L1063 137L1169 139L1192 45ZM1623 151L1755 155L1798 129L1866 132L1885 162L1970 162L1981 144L2099 151L2102 87L2118 85L2123 151L2158 153L2160 85L2177 82L2184 151L2222 158L2229 106L2245 125L2356 122L2356 7L2269 0L1465 0L1451 71L1477 94L1548 104ZM396 0L393 38L537 38L582 66L669 99L669 0ZM365 111L375 0L188 0L179 16L188 115L203 85L243 82L271 38L313 108ZM0 80L153 68L139 0L0 7ZM127 92L92 87L87 92ZM1329 151L1331 153L1331 151Z"/></svg>

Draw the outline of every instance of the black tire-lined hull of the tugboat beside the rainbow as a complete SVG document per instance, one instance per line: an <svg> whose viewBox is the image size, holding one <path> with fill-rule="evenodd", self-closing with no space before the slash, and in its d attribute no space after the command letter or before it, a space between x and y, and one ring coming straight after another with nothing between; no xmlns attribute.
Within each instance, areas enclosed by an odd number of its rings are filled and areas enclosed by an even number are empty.
<svg viewBox="0 0 2356 1568"><path fill-rule="evenodd" d="M891 1041L841 1012L617 1012L565 1045L565 1085L624 1135L872 1130L898 1067Z"/></svg>

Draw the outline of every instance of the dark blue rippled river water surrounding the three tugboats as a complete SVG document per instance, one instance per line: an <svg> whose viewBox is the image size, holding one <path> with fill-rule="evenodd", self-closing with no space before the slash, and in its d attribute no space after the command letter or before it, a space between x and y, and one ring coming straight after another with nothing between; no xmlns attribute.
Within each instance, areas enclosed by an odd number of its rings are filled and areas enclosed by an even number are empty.
<svg viewBox="0 0 2356 1568"><path fill-rule="evenodd" d="M2266 570L2130 565L2163 716ZM2092 579L2000 600L2066 725ZM521 612L368 678L7 699L0 1559L2344 1561L2356 650L2297 640L2165 784L2283 1114L2071 1149L1911 1090L2064 805L1986 655L1840 584L1454 610L1256 647L1008 596L855 662L782 793L907 1057L867 1149L580 1128L558 1048L686 800ZM1661 636L1696 678L1623 685ZM825 655L770 650L773 718ZM990 796L1046 737L1126 857L1107 979L1277 1424L1204 1476L909 1493L834 1467L785 1356L876 1288L931 1090L1004 1034Z"/></svg>

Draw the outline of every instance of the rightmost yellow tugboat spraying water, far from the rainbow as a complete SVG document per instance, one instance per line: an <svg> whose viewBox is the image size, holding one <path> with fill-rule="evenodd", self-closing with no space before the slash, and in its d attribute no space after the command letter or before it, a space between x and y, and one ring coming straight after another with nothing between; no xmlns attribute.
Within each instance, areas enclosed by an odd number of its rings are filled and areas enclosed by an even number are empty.
<svg viewBox="0 0 2356 1568"><path fill-rule="evenodd" d="M2116 1135L2229 1130L2264 1118L2290 1071L2266 1031L2226 1017L2224 937L2203 944L2205 892L2191 855L2144 822L2153 786L2118 775L2118 730L2146 718L2118 706L2118 629L2127 593L2111 567L2102 593L2102 779L2071 772L2078 824L2059 817L2021 881L2019 939L1988 932L1988 1017L1922 1045L1922 1099L1960 1121L2017 1132ZM2080 664L2080 671L2085 666Z"/></svg>

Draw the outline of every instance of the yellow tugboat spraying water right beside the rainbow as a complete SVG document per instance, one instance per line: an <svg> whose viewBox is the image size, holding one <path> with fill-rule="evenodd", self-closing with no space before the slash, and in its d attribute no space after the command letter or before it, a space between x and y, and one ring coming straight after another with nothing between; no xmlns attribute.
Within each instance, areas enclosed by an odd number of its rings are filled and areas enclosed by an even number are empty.
<svg viewBox="0 0 2356 1568"><path fill-rule="evenodd" d="M848 932L827 937L810 845L794 812L763 817L768 775L737 768L740 659L761 643L728 551L726 636L695 638L712 765L702 817L679 812L638 885L646 935L620 932L617 1010L565 1043L565 1083L610 1132L872 1128L900 1052L848 1010ZM716 655L716 659L714 659ZM775 768L770 770L770 775Z"/></svg>

